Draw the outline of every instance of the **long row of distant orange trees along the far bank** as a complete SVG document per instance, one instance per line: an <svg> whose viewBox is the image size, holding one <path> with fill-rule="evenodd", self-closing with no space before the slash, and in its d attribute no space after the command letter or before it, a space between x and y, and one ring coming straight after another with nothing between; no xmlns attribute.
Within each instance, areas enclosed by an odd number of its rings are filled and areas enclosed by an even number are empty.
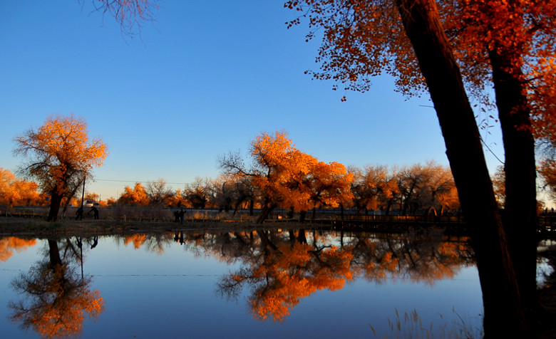
<svg viewBox="0 0 556 339"><path fill-rule="evenodd" d="M444 215L458 212L460 203L449 167L434 161L425 164L392 166L366 165L344 167L337 162L326 164L307 155L292 144L285 132L262 133L251 144L250 165L237 153L218 159L222 174L201 178L173 190L163 178L133 186L125 186L117 199L101 200L87 192L85 202L103 206L184 207L219 209L235 215L240 209L261 209L257 221L262 222L276 208L287 209L305 219L307 212L340 207L354 209L357 214L380 211L390 214ZM500 207L505 202L503 169L493 175ZM547 186L555 190L554 182ZM81 205L74 189L62 204ZM0 168L0 204L7 206L41 206L49 204L48 192L40 192L35 182L16 179L9 170ZM64 209L64 210L65 210Z"/></svg>

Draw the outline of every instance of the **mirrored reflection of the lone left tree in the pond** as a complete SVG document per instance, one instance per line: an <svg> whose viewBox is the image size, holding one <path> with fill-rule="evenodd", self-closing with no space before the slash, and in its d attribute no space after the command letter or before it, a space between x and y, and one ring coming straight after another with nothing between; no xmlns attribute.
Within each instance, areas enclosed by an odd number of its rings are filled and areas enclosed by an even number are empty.
<svg viewBox="0 0 556 339"><path fill-rule="evenodd" d="M96 246L95 239L89 244ZM86 314L96 318L102 313L101 293L91 291L91 277L77 271L83 259L83 240L76 239L76 246L66 239L60 249L58 241L48 239L47 257L11 281L23 296L9 302L11 321L46 338L68 337L81 332Z"/></svg>

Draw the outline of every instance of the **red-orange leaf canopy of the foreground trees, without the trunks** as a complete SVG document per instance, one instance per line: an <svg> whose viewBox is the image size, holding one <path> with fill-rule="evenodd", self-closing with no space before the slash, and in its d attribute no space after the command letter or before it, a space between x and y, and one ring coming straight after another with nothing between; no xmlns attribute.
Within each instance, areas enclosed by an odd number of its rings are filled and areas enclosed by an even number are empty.
<svg viewBox="0 0 556 339"><path fill-rule="evenodd" d="M404 95L426 90L392 0L289 0L284 6L301 13L288 26L305 18L307 39L322 35L321 71L309 71L314 78L365 91L372 76L386 72ZM492 103L488 53L503 53L505 68L522 72L537 135L550 137L556 127L556 1L440 0L437 7L468 92Z"/></svg>

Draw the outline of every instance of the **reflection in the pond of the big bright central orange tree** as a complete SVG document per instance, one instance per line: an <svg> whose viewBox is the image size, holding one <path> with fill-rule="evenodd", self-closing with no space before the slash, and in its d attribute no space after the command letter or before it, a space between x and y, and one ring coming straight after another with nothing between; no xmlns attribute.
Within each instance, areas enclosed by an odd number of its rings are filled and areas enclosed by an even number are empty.
<svg viewBox="0 0 556 339"><path fill-rule="evenodd" d="M223 295L235 297L244 283L249 284L248 305L254 318L282 321L302 298L324 288L338 290L353 278L349 251L335 246L315 248L301 241L272 244L264 231L257 235L262 256L223 277L217 287Z"/></svg>

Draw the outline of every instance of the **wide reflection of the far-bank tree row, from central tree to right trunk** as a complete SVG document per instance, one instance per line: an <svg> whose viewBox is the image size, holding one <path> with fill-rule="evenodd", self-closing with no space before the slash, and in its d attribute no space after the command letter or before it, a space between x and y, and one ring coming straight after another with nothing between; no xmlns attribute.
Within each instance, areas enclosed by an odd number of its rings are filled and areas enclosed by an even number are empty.
<svg viewBox="0 0 556 339"><path fill-rule="evenodd" d="M356 277L375 283L410 279L432 285L473 264L467 239L433 241L415 234L368 233L350 234L348 239L340 233L338 239L319 231L307 236L304 230L225 235L227 241L217 243L222 256L234 253L242 267L222 277L217 293L236 299L249 286L249 310L259 320L284 320L305 296L324 288L337 290ZM230 251L233 244L241 246Z"/></svg>

